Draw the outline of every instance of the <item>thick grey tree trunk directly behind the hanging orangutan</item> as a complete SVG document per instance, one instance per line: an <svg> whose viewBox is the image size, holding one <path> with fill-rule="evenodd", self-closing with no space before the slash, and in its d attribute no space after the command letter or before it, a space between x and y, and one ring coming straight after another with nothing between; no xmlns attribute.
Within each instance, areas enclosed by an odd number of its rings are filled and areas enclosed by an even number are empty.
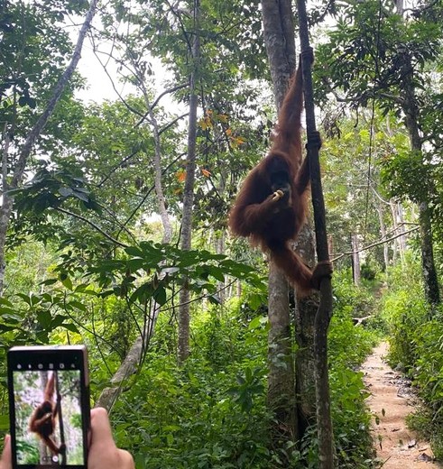
<svg viewBox="0 0 443 469"><path fill-rule="evenodd" d="M271 69L277 108L288 89L289 79L295 71L295 37L291 0L262 0L263 31ZM292 337L289 313L289 286L284 274L272 262L269 268L269 378L268 406L275 424L272 439L281 445L281 436L292 441L297 435L297 413ZM284 358L281 358L284 357ZM286 366L281 366L281 360Z"/></svg>

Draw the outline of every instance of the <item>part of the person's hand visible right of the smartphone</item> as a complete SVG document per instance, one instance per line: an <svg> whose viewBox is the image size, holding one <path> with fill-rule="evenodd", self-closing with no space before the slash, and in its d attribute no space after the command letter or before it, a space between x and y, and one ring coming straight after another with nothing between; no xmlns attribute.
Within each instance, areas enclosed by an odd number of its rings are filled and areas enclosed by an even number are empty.
<svg viewBox="0 0 443 469"><path fill-rule="evenodd" d="M115 446L106 409L91 410L91 444L88 469L134 469L133 456ZM4 469L0 465L0 469ZM5 467L5 469L10 469Z"/></svg>

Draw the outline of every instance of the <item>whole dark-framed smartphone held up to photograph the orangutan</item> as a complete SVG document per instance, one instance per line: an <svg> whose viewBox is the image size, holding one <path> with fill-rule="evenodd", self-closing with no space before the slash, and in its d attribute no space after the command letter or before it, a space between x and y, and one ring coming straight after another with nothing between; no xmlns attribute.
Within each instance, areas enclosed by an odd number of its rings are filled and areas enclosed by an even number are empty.
<svg viewBox="0 0 443 469"><path fill-rule="evenodd" d="M90 418L86 347L13 347L7 364L14 469L86 469Z"/></svg>

